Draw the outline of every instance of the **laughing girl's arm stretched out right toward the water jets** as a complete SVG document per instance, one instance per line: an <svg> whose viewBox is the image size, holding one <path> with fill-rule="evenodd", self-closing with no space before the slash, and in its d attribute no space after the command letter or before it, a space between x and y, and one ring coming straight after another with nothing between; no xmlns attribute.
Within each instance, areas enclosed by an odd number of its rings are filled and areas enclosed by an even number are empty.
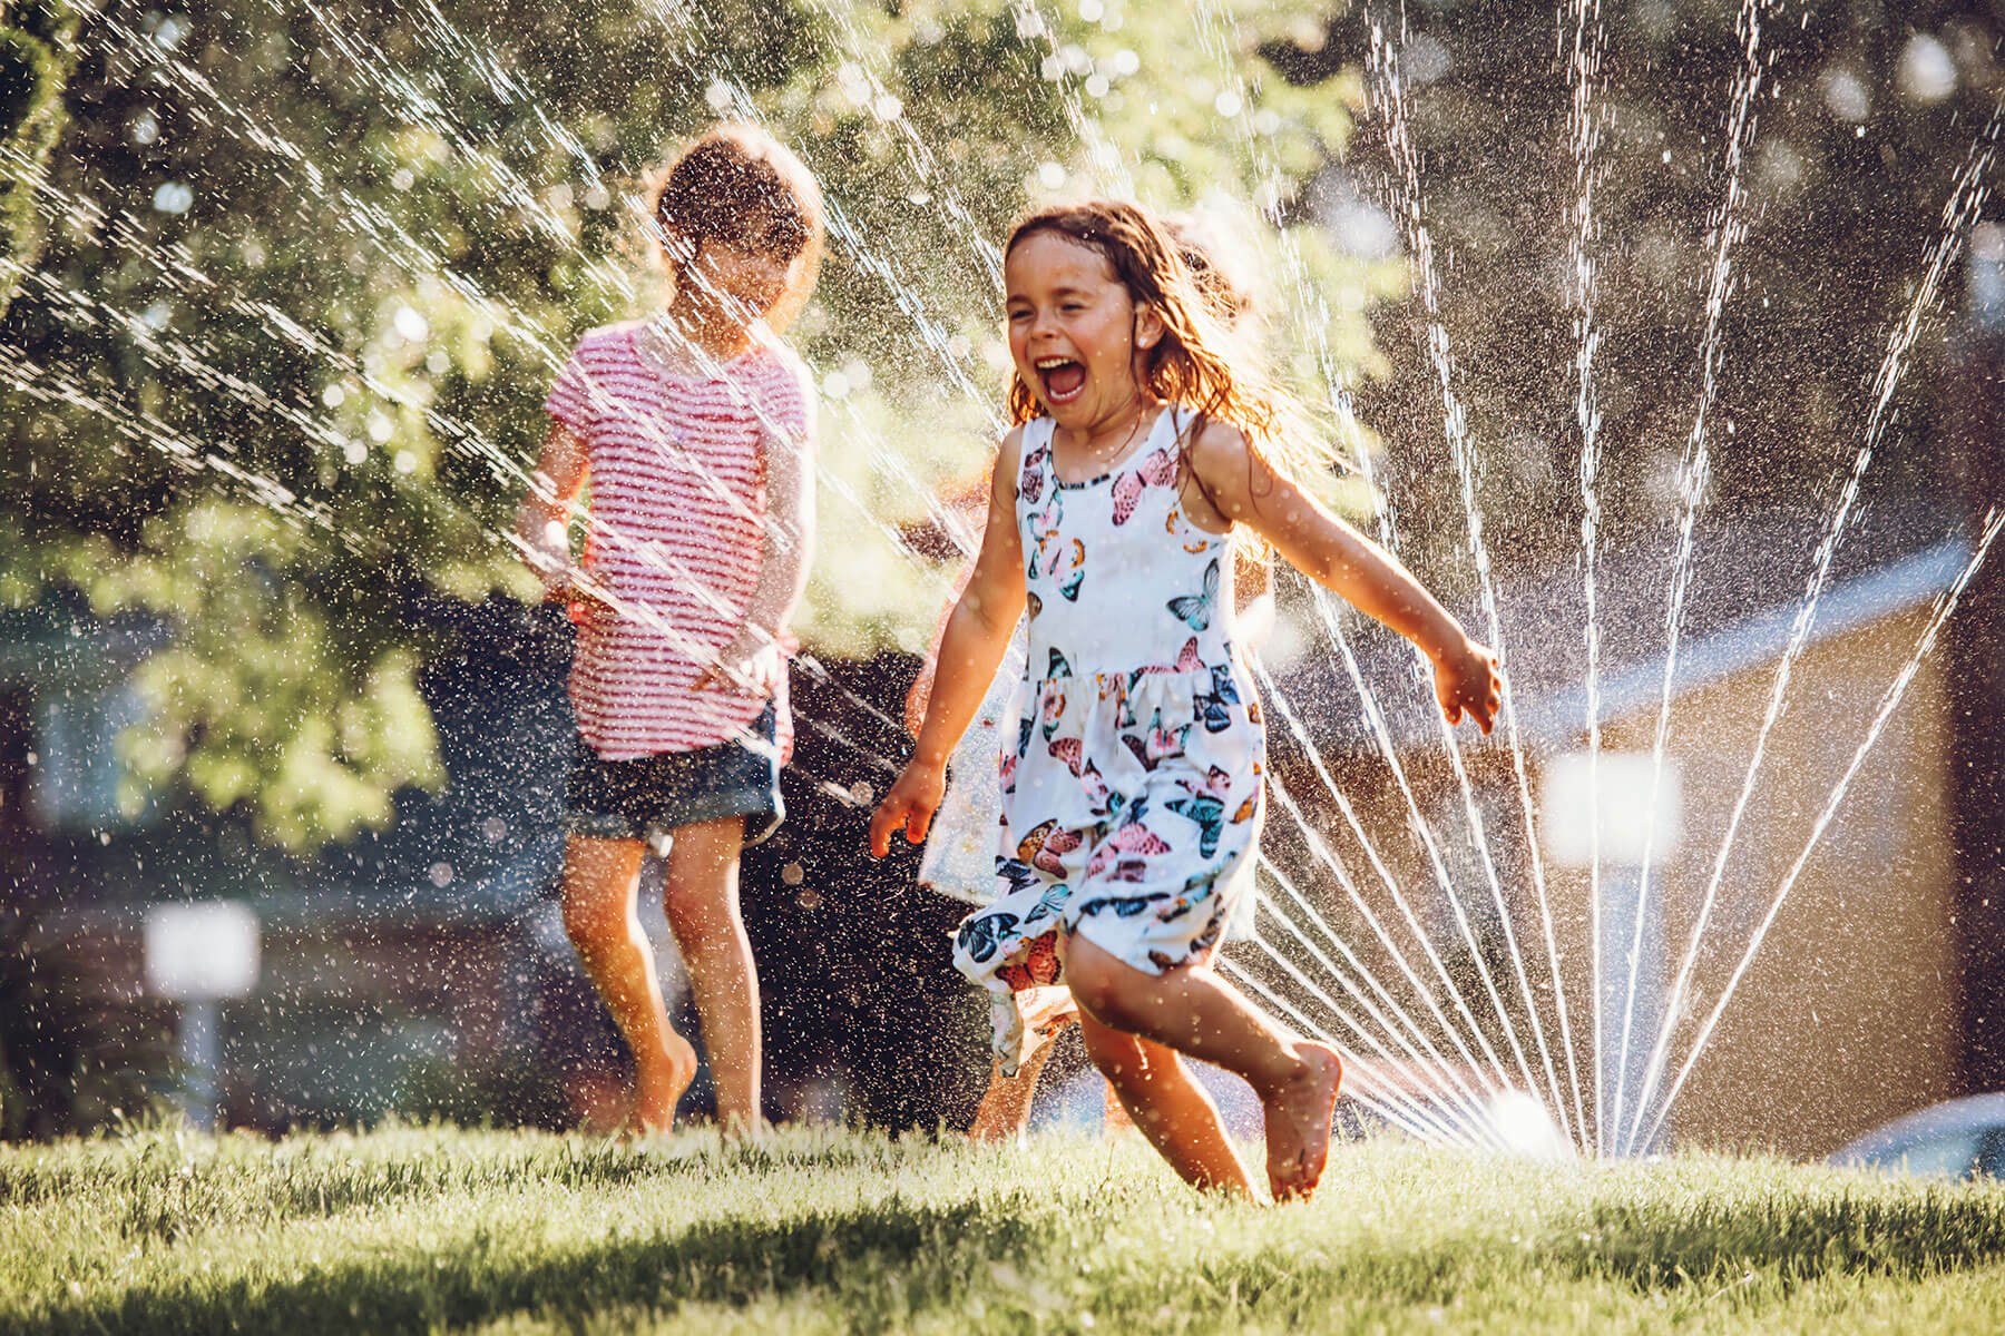
<svg viewBox="0 0 2005 1336"><path fill-rule="evenodd" d="M1420 645L1434 661L1434 695L1448 721L1470 715L1490 731L1504 693L1496 655L1472 641L1391 553L1277 473L1225 423L1205 425L1189 465L1203 485L1187 487L1183 497L1195 521L1209 529L1223 521L1249 525L1297 571Z"/></svg>

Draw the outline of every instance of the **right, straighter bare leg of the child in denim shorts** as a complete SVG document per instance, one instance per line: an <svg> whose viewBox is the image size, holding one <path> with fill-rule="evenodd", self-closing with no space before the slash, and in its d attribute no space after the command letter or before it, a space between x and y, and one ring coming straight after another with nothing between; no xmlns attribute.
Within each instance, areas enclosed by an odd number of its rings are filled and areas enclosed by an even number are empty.
<svg viewBox="0 0 2005 1336"><path fill-rule="evenodd" d="M742 1132L760 1126L758 969L738 913L744 827L744 817L678 825L662 895L704 1026L718 1124Z"/></svg>

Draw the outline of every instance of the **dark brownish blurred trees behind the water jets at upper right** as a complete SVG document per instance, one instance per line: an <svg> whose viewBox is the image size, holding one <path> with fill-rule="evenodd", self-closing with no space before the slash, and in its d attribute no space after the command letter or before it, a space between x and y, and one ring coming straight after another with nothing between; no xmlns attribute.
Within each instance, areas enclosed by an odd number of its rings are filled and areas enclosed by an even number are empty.
<svg viewBox="0 0 2005 1336"><path fill-rule="evenodd" d="M1367 70L1373 26L1397 60L1420 218L1440 272L1438 320L1482 461L1486 535L1496 559L1520 571L1568 561L1582 519L1574 10L1359 4L1263 48L1287 80L1345 98L1383 88ZM1706 507L1750 517L1829 499L1859 449L1887 335L1907 316L1943 230L1953 176L2005 88L1997 6L1861 0L1784 12L1758 0L1654 0L1586 10L1600 24L1584 30L1598 52L1584 256L1596 270L1604 533L1612 543L1662 537L1678 509L1742 68L1756 74L1734 176L1734 218L1746 232L1726 248ZM1391 206L1399 160L1389 124L1379 96L1327 198L1353 246L1406 252L1414 234ZM1951 280L1943 306L1955 302ZM1941 485L1929 371L1943 306L1903 367L1899 427L1873 465L1887 495ZM1456 557L1468 541L1460 493L1444 485L1428 308L1381 304L1373 326L1389 375L1359 385L1357 411L1397 447L1387 487L1401 529L1438 577L1466 571Z"/></svg>

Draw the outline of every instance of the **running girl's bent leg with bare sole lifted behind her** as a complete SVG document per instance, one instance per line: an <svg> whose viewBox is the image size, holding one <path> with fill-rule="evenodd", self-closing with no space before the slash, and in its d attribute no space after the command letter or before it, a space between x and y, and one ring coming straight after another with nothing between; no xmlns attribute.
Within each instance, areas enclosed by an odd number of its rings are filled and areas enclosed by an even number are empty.
<svg viewBox="0 0 2005 1336"><path fill-rule="evenodd" d="M1153 1040L1245 1078L1265 1112L1267 1186L1275 1200L1315 1192L1329 1158L1329 1118L1343 1080L1333 1048L1275 1030L1203 965L1147 973L1075 933L1067 943L1065 977L1079 999L1081 1022L1091 1016L1109 1030ZM1119 1084L1117 1090L1153 1142L1141 1112Z"/></svg>

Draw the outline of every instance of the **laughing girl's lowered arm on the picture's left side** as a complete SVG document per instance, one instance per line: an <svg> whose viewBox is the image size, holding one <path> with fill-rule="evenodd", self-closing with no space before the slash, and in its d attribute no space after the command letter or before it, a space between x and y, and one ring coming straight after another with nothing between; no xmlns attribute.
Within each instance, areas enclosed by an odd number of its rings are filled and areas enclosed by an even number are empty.
<svg viewBox="0 0 2005 1336"><path fill-rule="evenodd" d="M870 815L870 853L876 857L890 853L890 835L898 827L904 827L904 837L912 843L926 837L940 793L946 789L946 755L988 695L988 683L994 681L996 665L1002 663L1011 635L1017 633L1017 619L1023 617L1023 537L1017 533L1021 455L1023 429L1017 429L996 451L982 551L974 557L968 587L960 591L954 611L946 617L932 699L926 703L926 719L918 725L912 759Z"/></svg>

